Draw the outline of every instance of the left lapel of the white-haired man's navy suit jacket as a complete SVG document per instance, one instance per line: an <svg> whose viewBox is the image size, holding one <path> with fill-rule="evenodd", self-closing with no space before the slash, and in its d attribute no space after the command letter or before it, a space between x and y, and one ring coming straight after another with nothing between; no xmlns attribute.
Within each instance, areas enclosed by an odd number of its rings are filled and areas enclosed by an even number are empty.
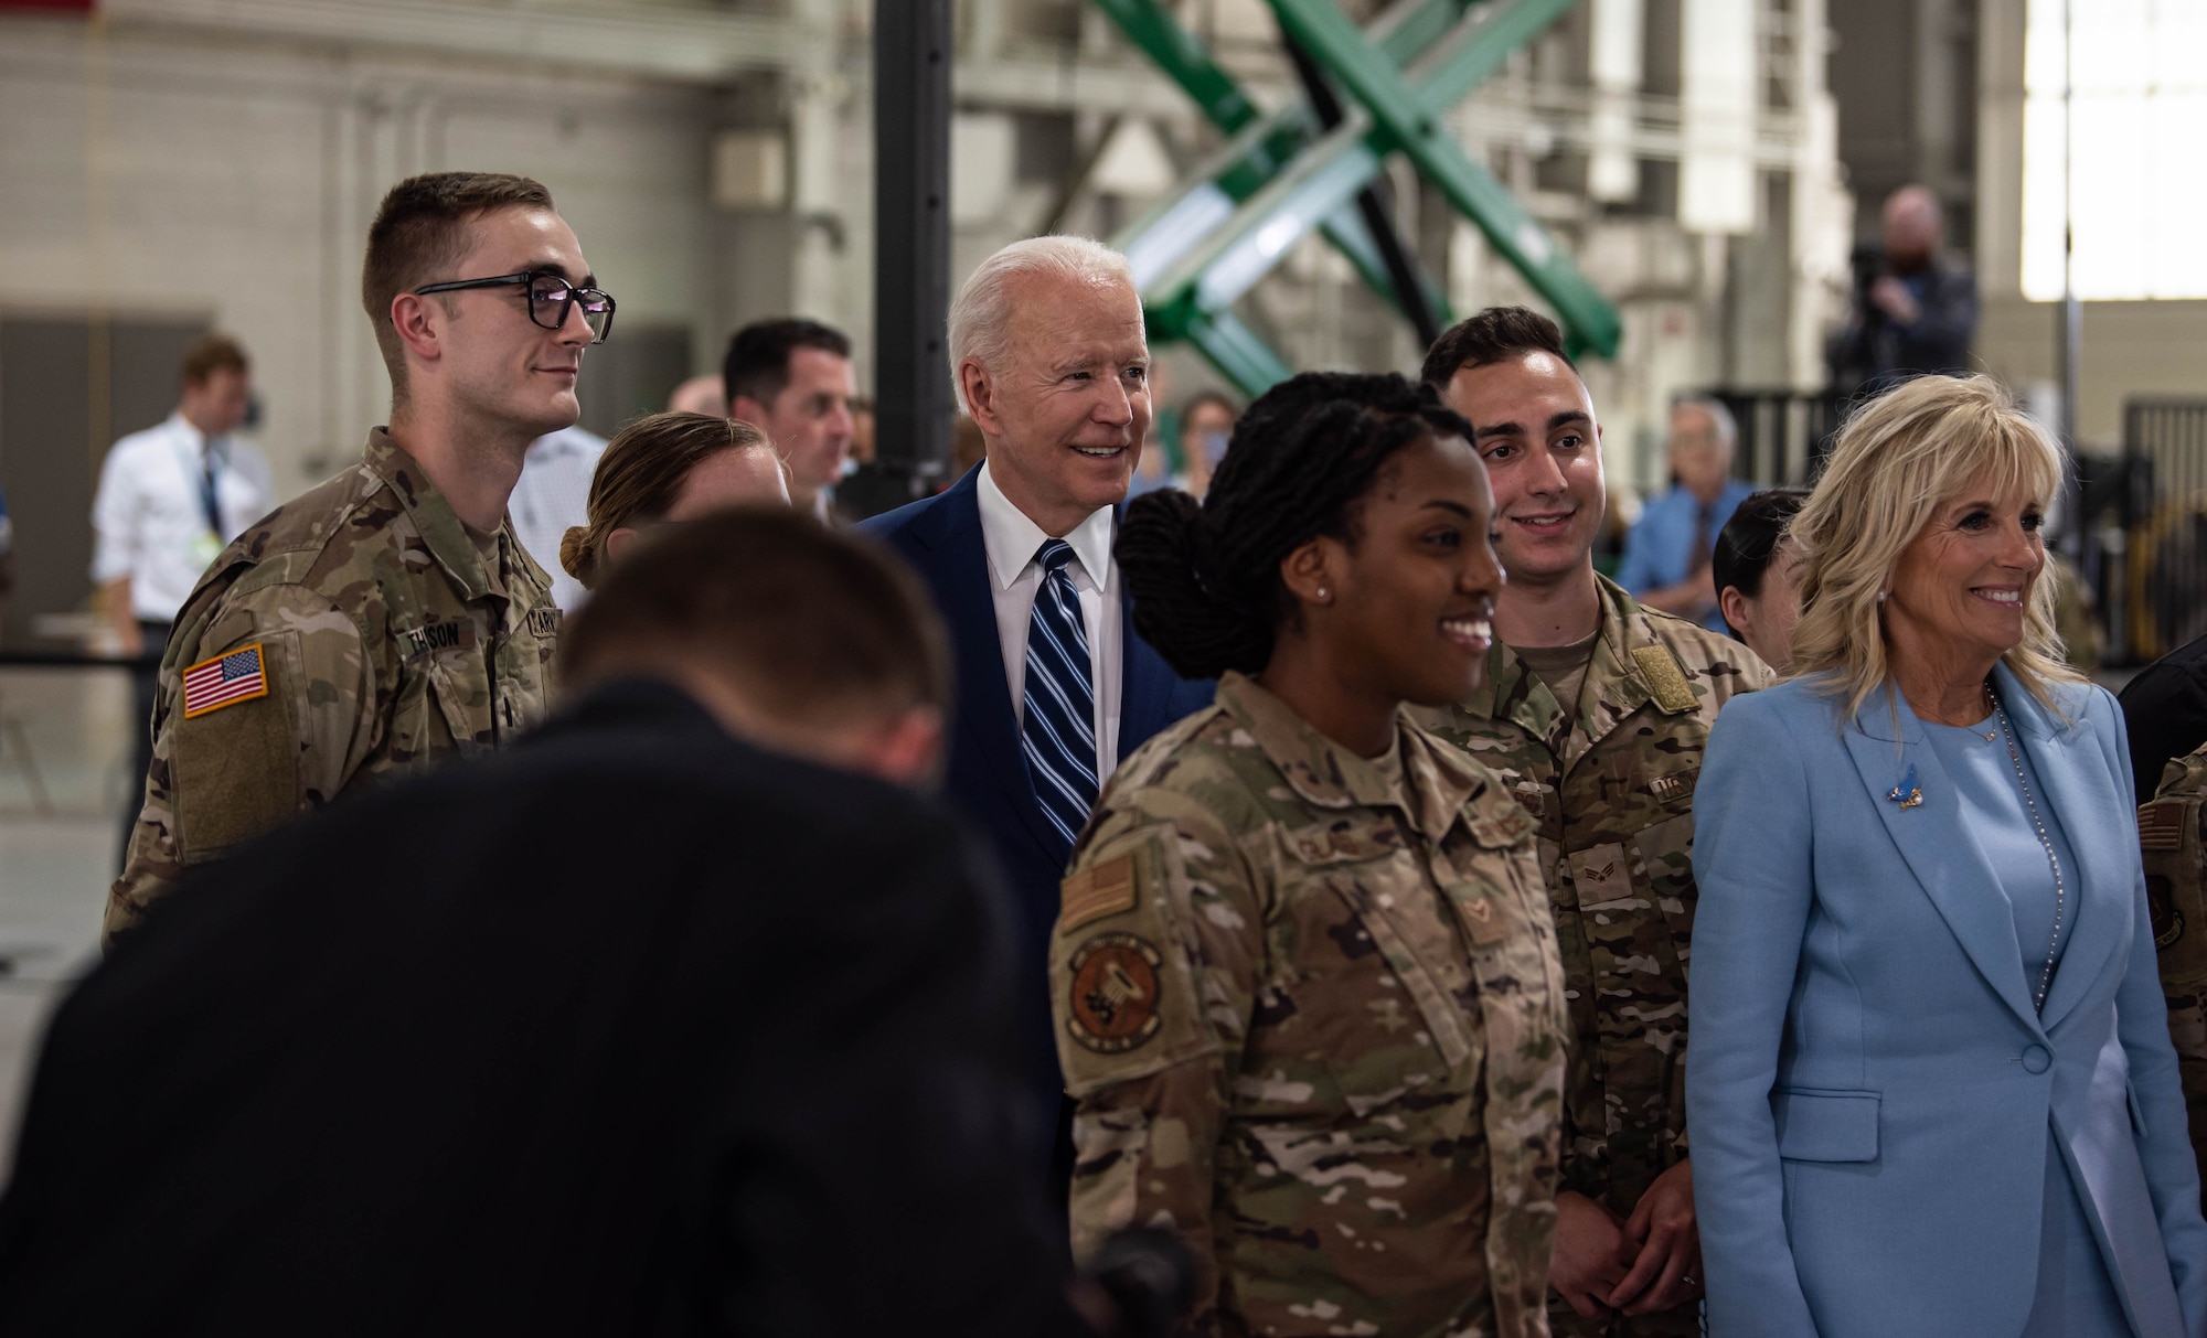
<svg viewBox="0 0 2207 1338"><path fill-rule="evenodd" d="M1020 755L1020 731L1013 726L1017 715L1011 711L1011 684L1004 682L1004 643L995 631L995 578L980 532L978 470L967 470L942 495L938 514L940 525L918 537L936 565L936 603L958 662L958 733L980 755L982 768L1035 841L1044 850L1059 850L1064 841L1035 804L1026 760Z"/></svg>

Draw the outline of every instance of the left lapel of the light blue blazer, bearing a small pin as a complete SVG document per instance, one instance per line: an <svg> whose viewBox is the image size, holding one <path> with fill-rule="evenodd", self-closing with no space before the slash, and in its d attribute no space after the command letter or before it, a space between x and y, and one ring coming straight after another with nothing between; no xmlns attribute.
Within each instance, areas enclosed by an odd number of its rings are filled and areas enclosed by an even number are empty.
<svg viewBox="0 0 2207 1338"><path fill-rule="evenodd" d="M1975 963L1977 974L1993 987L2015 1016L2037 1027L2037 1009L2030 1005L2030 989L2024 983L2024 958L2015 945L2015 916L2008 901L2000 896L1993 863L1984 848L1960 821L1960 799L1953 782L1940 766L1938 753L1922 733L1922 724L1900 704L1900 740L1894 748L1894 718L1885 693L1863 702L1854 724L1845 731L1847 755L1863 777L1869 799L1885 824L1909 872L1922 885L1931 905L1938 907L1947 930ZM1916 771L1916 788L1922 804L1900 808L1891 790Z"/></svg>

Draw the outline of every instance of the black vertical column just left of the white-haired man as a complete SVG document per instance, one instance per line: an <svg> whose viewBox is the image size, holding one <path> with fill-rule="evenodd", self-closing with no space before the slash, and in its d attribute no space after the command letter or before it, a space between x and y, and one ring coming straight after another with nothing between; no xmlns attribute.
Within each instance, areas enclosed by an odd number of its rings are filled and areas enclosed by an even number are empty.
<svg viewBox="0 0 2207 1338"><path fill-rule="evenodd" d="M951 0L874 0L876 450L903 499L951 457L949 197Z"/></svg>

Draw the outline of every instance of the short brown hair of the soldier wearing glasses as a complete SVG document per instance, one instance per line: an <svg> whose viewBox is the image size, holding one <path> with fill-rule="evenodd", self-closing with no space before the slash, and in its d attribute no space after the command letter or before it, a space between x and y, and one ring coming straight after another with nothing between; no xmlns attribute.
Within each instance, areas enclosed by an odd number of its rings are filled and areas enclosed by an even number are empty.
<svg viewBox="0 0 2207 1338"><path fill-rule="evenodd" d="M369 258L360 265L360 305L375 327L375 347L391 369L391 395L406 400L406 353L391 325L391 300L446 274L468 254L468 223L492 210L552 210L541 181L508 172L424 172L391 188L369 223Z"/></svg>

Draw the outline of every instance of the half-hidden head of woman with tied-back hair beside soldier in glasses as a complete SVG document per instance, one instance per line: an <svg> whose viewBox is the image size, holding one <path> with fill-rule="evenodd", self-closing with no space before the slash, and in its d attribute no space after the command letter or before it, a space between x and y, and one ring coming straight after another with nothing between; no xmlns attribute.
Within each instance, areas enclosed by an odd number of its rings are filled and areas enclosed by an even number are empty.
<svg viewBox="0 0 2207 1338"><path fill-rule="evenodd" d="M558 563L578 587L596 590L644 532L744 501L790 503L788 470L759 428L717 413L653 413L605 448Z"/></svg>

